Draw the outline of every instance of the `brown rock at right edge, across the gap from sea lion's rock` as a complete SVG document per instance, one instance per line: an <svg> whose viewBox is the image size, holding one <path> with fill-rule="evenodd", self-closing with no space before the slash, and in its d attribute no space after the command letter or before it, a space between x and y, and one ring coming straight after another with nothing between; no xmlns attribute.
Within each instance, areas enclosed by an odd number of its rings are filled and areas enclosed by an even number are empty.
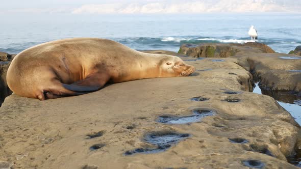
<svg viewBox="0 0 301 169"><path fill-rule="evenodd" d="M240 53L238 64L260 81L268 91L301 91L301 57L284 53Z"/></svg>

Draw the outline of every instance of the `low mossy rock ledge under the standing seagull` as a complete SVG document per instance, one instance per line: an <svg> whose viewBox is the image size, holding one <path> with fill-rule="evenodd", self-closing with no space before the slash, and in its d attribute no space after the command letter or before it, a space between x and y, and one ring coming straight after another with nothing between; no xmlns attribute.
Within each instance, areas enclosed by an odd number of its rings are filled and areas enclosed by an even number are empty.
<svg viewBox="0 0 301 169"><path fill-rule="evenodd" d="M203 43L200 45L183 44L179 53L194 58L228 58L239 51L253 50L256 53L274 53L275 51L262 43L247 42L244 44Z"/></svg>

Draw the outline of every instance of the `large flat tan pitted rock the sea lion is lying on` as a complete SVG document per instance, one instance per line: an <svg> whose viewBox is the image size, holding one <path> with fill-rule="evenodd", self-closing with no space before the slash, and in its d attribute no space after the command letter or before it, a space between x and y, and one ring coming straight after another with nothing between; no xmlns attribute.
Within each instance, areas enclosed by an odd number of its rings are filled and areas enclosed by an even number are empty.
<svg viewBox="0 0 301 169"><path fill-rule="evenodd" d="M285 156L294 153L299 126L273 98L248 92L252 75L237 58L182 59L196 67L192 76L46 101L8 96L0 108L0 159L28 152L15 168L297 168ZM205 110L214 113L189 123ZM188 124L160 123L162 116Z"/></svg>

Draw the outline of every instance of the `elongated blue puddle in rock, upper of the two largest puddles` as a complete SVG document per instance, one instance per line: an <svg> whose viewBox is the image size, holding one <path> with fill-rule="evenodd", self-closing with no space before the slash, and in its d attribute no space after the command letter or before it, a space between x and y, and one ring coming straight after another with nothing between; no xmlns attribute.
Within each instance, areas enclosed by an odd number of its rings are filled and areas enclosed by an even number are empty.
<svg viewBox="0 0 301 169"><path fill-rule="evenodd" d="M206 116L213 116L215 112L213 110L196 108L192 110L194 115L189 116L172 116L165 115L160 116L158 122L165 124L188 124L193 122L199 122Z"/></svg>

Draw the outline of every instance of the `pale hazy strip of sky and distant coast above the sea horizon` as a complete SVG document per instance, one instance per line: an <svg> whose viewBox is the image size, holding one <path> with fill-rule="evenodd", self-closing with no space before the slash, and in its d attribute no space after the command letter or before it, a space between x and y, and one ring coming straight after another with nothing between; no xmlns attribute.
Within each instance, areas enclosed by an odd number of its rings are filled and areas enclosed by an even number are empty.
<svg viewBox="0 0 301 169"><path fill-rule="evenodd" d="M301 0L0 0L0 13L161 14L161 13L301 13Z"/></svg>

